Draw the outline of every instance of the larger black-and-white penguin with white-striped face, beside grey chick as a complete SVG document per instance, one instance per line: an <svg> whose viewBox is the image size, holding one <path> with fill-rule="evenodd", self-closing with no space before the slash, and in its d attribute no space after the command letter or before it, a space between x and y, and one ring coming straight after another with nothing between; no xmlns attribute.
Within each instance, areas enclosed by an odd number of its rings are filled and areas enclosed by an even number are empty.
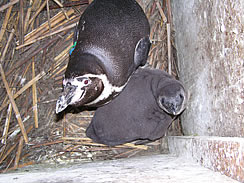
<svg viewBox="0 0 244 183"><path fill-rule="evenodd" d="M149 34L135 0L94 0L80 18L56 113L68 105L98 107L120 93L146 63Z"/></svg>

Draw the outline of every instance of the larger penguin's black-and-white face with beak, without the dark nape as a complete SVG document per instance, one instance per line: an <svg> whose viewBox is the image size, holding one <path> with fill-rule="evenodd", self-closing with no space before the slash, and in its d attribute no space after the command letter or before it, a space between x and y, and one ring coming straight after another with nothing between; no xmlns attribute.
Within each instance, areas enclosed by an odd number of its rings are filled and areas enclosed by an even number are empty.
<svg viewBox="0 0 244 183"><path fill-rule="evenodd" d="M88 75L63 80L63 93L56 103L56 113L69 105L82 106L95 100L103 91L103 82L97 77Z"/></svg>

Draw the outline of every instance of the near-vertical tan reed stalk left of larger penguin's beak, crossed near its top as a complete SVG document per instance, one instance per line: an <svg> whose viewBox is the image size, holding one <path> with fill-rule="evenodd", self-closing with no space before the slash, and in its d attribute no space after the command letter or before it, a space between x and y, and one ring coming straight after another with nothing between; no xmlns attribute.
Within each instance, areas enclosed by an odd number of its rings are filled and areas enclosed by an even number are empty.
<svg viewBox="0 0 244 183"><path fill-rule="evenodd" d="M33 62L32 62L32 79L34 78L35 78L35 57L33 57ZM33 112L34 112L35 128L38 128L36 82L32 84L32 97L33 97Z"/></svg>

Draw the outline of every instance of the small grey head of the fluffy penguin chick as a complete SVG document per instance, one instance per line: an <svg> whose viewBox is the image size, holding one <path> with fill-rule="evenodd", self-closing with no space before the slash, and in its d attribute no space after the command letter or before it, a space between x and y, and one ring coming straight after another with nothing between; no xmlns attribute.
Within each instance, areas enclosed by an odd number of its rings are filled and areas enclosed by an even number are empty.
<svg viewBox="0 0 244 183"><path fill-rule="evenodd" d="M179 82L168 83L160 88L158 104L161 109L171 115L179 115L186 107L186 92Z"/></svg>

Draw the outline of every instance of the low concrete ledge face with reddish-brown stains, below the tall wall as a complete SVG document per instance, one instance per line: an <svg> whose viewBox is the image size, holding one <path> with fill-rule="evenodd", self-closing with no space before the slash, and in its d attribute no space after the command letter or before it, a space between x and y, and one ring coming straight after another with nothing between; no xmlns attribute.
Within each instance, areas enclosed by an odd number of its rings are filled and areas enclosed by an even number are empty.
<svg viewBox="0 0 244 183"><path fill-rule="evenodd" d="M244 138L170 136L168 145L171 154L244 183Z"/></svg>

